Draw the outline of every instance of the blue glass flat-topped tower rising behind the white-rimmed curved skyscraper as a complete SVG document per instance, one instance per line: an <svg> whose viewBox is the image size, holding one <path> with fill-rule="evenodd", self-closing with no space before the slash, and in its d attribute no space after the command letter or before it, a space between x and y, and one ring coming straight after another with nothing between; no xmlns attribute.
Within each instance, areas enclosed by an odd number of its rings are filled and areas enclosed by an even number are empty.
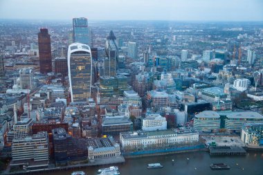
<svg viewBox="0 0 263 175"><path fill-rule="evenodd" d="M79 42L90 46L87 18L73 18L73 42Z"/></svg>

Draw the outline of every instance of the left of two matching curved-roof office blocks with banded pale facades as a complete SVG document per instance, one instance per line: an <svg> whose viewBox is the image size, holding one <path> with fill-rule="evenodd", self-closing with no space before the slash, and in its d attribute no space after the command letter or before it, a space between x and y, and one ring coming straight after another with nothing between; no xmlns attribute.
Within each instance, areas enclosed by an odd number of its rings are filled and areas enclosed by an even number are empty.
<svg viewBox="0 0 263 175"><path fill-rule="evenodd" d="M215 111L203 111L194 116L194 130L217 132L220 129L220 116Z"/></svg>

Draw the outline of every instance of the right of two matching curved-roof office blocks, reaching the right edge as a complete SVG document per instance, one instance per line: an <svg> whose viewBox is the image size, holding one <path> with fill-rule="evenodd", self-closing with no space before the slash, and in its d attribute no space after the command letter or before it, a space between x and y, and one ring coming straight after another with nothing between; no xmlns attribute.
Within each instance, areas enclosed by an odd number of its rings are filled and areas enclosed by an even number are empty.
<svg viewBox="0 0 263 175"><path fill-rule="evenodd" d="M263 122L260 113L252 111L235 112L226 115L225 129L229 133L240 133L245 123Z"/></svg>

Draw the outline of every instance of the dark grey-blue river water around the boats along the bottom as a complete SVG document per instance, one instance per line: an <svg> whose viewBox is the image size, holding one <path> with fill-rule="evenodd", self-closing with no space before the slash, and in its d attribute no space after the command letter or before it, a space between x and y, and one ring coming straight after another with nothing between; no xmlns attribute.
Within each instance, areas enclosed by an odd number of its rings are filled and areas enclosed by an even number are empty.
<svg viewBox="0 0 263 175"><path fill-rule="evenodd" d="M189 160L188 160L189 158ZM174 159L174 163L172 160ZM147 169L148 163L161 163L161 169ZM229 170L212 170L211 163L226 163ZM127 158L124 165L118 165L121 175L263 175L263 151L248 151L246 156L210 156L206 151L150 156L144 158ZM88 175L96 175L99 168L82 169ZM54 172L49 175L71 174Z"/></svg>

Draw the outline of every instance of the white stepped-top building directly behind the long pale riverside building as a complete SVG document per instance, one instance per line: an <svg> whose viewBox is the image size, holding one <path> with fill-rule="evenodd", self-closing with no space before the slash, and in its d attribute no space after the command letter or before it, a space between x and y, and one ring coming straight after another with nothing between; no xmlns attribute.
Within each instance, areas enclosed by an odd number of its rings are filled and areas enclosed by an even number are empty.
<svg viewBox="0 0 263 175"><path fill-rule="evenodd" d="M160 114L152 113L143 118L143 131L156 131L167 129L166 118Z"/></svg>

